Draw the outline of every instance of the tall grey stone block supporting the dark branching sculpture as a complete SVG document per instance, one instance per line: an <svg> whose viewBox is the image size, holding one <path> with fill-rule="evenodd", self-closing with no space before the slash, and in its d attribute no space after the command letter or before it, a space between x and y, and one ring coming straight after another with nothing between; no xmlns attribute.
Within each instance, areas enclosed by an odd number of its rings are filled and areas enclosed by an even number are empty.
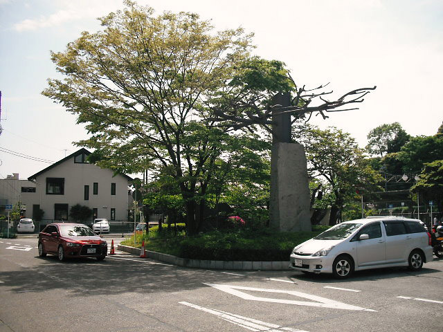
<svg viewBox="0 0 443 332"><path fill-rule="evenodd" d="M271 151L271 228L281 232L311 230L305 149L275 142Z"/></svg>

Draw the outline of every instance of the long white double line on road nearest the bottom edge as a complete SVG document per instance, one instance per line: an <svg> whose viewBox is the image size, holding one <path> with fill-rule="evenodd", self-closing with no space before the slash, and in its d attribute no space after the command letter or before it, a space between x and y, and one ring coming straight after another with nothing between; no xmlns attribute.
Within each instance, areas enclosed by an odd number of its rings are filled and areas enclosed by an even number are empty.
<svg viewBox="0 0 443 332"><path fill-rule="evenodd" d="M237 326L241 326L244 329L248 329L249 331L268 331L268 332L278 332L278 331L289 331L289 332L307 332L303 330L291 329L290 327L283 327L277 324L271 324L262 322L260 320L254 320L253 318L243 317L240 315L235 315L233 313L226 313L225 311L219 311L217 309L204 308L203 306L197 306L197 304L192 304L189 302L179 302L179 304L183 304L185 306L190 306L191 308L195 308L200 311L204 311L205 313L211 313L220 317L222 320L226 320L226 322L233 323Z"/></svg>

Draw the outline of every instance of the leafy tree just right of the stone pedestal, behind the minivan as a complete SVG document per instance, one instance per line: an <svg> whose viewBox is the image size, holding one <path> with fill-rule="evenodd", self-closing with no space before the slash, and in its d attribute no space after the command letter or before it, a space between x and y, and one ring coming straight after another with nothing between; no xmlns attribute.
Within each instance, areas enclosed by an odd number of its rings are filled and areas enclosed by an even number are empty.
<svg viewBox="0 0 443 332"><path fill-rule="evenodd" d="M381 176L370 166L354 138L334 127L321 130L305 126L298 140L305 145L308 172L312 177L323 178L334 195L329 225L341 221L346 201L356 198L356 190L372 192L378 189Z"/></svg>

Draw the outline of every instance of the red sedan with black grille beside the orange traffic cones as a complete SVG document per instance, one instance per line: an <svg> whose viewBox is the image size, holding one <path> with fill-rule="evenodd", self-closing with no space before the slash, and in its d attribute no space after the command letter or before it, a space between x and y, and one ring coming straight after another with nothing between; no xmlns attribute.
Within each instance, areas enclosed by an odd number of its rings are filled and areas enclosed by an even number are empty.
<svg viewBox="0 0 443 332"><path fill-rule="evenodd" d="M82 223L51 223L39 232L39 256L57 255L60 261L71 257L105 259L108 245Z"/></svg>

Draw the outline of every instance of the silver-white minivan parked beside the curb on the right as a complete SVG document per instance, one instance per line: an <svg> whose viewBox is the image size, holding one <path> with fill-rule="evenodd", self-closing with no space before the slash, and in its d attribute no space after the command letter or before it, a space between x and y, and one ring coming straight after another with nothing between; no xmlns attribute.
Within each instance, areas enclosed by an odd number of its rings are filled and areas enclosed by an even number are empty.
<svg viewBox="0 0 443 332"><path fill-rule="evenodd" d="M420 270L432 255L431 234L419 220L387 216L334 225L293 248L290 259L294 270L344 279L370 268Z"/></svg>

